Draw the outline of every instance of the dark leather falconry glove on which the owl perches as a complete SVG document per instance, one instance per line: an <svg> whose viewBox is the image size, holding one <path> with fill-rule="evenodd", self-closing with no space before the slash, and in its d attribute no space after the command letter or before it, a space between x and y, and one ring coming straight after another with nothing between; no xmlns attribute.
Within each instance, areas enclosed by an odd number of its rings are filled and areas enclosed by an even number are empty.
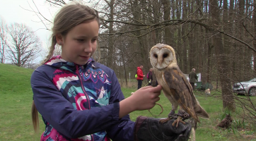
<svg viewBox="0 0 256 141"><path fill-rule="evenodd" d="M139 116L134 126L135 141L187 141L190 138L190 123L179 123L173 126L174 119L165 123L159 122L160 118Z"/></svg>

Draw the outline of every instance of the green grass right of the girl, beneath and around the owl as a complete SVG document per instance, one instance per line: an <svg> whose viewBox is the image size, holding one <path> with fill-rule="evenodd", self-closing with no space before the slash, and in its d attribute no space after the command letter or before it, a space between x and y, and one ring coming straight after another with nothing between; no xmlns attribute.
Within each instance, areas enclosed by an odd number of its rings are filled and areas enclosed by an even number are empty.
<svg viewBox="0 0 256 141"><path fill-rule="evenodd" d="M124 97L129 97L131 92L134 92L136 89L129 89L129 88L122 88L122 92L124 93ZM216 125L218 125L219 122L222 121L223 118L225 118L225 111L223 110L222 106L222 100L221 95L218 94L218 92L215 92L216 94L213 97L206 97L204 95L204 92L195 92L195 96L198 99L200 105L206 110L206 112L209 114L210 119L204 119L200 118L201 123L198 123L197 130L196 130L196 140L197 141L205 141L205 140L251 140L256 141L255 133L251 127L252 125L248 125L248 123L245 123L245 131L242 130L244 128L234 128L235 134L233 133L233 130L223 130L221 128L218 128ZM239 96L243 97L244 96ZM252 102L254 104L256 103L256 97L250 97L252 99ZM168 101L167 98L163 94L160 95L160 101L157 102L163 106L163 113L160 116L152 116L149 111L134 111L130 115L132 121L136 120L137 116L149 116L154 118L166 118L167 115L170 112L171 104ZM151 109L151 113L153 115L158 115L161 112L160 106L156 105ZM242 118L240 116L243 114L243 110L238 108L236 111L231 114L234 120L242 121ZM232 123L235 125L235 123ZM255 125L254 125L255 126ZM248 136L247 136L248 135ZM252 135L255 137L254 140L252 140ZM245 138L248 137L248 138Z"/></svg>

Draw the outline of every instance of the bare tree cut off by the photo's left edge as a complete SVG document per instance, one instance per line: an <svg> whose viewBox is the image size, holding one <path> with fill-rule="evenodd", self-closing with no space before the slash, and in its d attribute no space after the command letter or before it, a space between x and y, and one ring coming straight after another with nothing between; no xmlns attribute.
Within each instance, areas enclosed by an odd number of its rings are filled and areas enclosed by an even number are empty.
<svg viewBox="0 0 256 141"><path fill-rule="evenodd" d="M0 17L0 62L4 63L5 59L5 49L6 49L6 39L7 39L8 27L3 18Z"/></svg>

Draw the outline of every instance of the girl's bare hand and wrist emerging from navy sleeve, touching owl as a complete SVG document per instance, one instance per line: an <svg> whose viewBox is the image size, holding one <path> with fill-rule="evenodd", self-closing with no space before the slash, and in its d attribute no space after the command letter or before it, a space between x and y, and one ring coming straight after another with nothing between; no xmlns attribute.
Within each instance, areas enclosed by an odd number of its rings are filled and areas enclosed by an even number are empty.
<svg viewBox="0 0 256 141"><path fill-rule="evenodd" d="M159 101L159 95L161 94L162 87L146 86L136 90L130 97L120 102L119 118L136 110L151 109Z"/></svg>

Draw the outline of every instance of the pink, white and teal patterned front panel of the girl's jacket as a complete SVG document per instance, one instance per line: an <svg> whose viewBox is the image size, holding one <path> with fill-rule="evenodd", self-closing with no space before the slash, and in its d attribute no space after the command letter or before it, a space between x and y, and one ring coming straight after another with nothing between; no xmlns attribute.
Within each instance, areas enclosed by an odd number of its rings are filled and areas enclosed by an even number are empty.
<svg viewBox="0 0 256 141"><path fill-rule="evenodd" d="M88 61L86 66L78 66L64 61L60 56L55 56L45 63L45 65L57 68L54 71L52 82L76 110L83 111L109 103L111 80L105 71L95 67L91 61ZM45 132L41 137L44 141L91 141L100 138L105 141L109 140L105 131L69 139L55 130L47 121L45 125Z"/></svg>

